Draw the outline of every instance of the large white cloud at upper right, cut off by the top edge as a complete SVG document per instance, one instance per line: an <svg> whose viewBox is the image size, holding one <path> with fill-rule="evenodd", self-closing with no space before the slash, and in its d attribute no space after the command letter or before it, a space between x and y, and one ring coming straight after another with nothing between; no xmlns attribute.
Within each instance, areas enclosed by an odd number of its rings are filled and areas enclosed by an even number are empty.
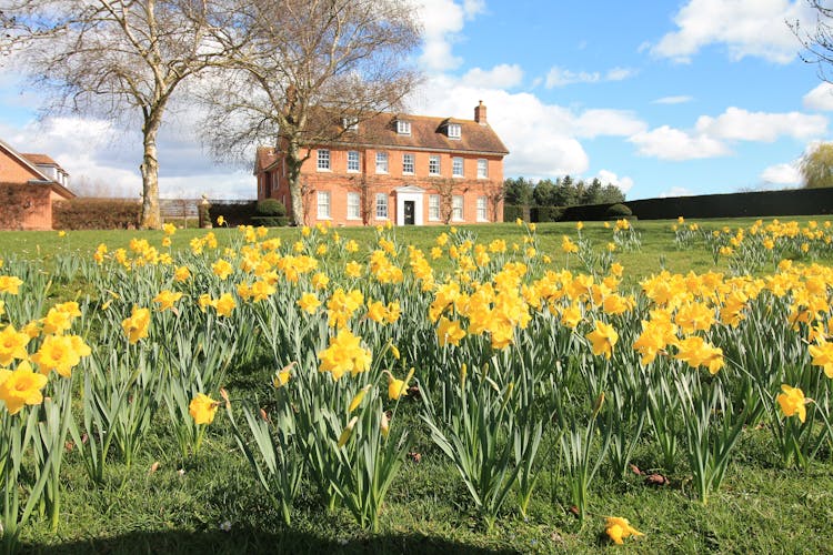
<svg viewBox="0 0 833 555"><path fill-rule="evenodd" d="M790 63L799 51L786 21L813 26L803 0L690 0L674 17L678 29L665 34L651 52L689 62L709 44L724 44L732 60L747 56Z"/></svg>

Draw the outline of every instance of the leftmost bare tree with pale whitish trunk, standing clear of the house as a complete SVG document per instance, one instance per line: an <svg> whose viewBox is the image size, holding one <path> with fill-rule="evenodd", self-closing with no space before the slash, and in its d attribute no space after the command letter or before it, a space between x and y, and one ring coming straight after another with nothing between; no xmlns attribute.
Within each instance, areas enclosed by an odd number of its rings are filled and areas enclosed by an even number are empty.
<svg viewBox="0 0 833 555"><path fill-rule="evenodd" d="M141 123L141 226L161 226L157 135L184 80L221 58L211 0L2 0L4 53L53 112ZM227 42L227 46L230 44Z"/></svg>

